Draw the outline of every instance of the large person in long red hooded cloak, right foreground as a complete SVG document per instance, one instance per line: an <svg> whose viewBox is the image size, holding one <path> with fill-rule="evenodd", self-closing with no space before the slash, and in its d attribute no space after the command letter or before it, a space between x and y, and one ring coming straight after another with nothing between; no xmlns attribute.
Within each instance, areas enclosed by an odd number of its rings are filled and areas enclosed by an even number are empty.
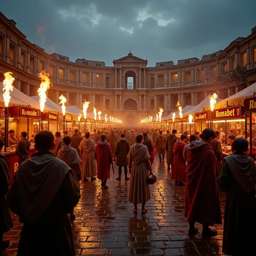
<svg viewBox="0 0 256 256"><path fill-rule="evenodd" d="M218 165L210 145L215 132L205 129L200 138L190 144L187 152L185 217L190 223L189 235L198 233L194 227L198 222L203 225L203 236L214 237L218 232L209 226L222 223L216 182Z"/></svg>

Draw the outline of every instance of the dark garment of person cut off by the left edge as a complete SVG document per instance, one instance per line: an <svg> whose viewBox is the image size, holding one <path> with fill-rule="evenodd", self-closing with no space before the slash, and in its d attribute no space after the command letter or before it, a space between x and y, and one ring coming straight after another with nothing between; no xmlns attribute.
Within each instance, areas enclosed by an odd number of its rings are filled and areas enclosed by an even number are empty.
<svg viewBox="0 0 256 256"><path fill-rule="evenodd" d="M0 153L0 235L9 231L12 226L9 207L6 201L6 194L10 186L10 170L7 160Z"/></svg>

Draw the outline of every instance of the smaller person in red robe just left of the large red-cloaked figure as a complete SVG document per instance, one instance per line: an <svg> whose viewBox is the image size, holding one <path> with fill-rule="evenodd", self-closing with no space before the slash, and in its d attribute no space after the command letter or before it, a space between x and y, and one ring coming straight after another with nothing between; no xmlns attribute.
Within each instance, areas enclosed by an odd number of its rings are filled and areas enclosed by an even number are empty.
<svg viewBox="0 0 256 256"><path fill-rule="evenodd" d="M187 136L181 134L180 139L173 146L172 179L175 180L175 185L179 186L185 186L182 181L186 181L186 161L183 158L186 139Z"/></svg>

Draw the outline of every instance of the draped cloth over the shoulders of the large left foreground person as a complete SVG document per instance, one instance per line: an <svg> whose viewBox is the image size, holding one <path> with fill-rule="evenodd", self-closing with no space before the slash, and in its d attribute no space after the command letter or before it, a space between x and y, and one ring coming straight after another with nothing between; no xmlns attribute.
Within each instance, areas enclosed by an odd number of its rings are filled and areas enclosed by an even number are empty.
<svg viewBox="0 0 256 256"><path fill-rule="evenodd" d="M21 214L24 222L35 224L55 198L70 167L50 152L38 152L16 173Z"/></svg>

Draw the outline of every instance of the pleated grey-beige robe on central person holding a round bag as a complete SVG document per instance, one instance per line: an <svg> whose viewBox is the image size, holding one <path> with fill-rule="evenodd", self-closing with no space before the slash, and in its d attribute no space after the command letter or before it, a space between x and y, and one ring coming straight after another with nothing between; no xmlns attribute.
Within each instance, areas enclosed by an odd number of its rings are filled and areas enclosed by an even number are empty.
<svg viewBox="0 0 256 256"><path fill-rule="evenodd" d="M150 172L146 164L150 153L145 145L136 143L131 146L128 158L132 160L129 201L133 204L146 203L151 198L150 185L147 183Z"/></svg>

